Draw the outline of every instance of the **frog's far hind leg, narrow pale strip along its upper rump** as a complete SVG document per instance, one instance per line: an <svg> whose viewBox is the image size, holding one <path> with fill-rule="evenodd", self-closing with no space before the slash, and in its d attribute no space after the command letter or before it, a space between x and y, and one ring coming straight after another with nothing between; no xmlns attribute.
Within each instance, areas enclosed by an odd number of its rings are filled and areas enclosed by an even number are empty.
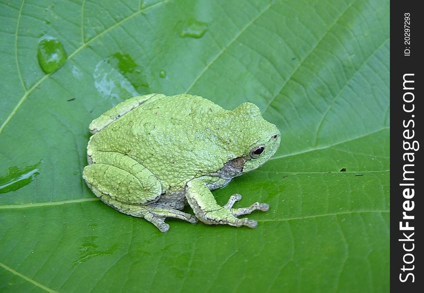
<svg viewBox="0 0 424 293"><path fill-rule="evenodd" d="M116 119L124 115L125 113L128 113L129 111L143 104L147 100L150 100L152 98L157 99L164 96L165 95L163 94L148 94L143 96L135 96L133 98L125 100L124 102L119 103L112 109L106 111L105 113L100 115L98 118L93 120L89 126L90 132L94 134L100 131L101 129L108 126L109 124L114 122Z"/></svg>

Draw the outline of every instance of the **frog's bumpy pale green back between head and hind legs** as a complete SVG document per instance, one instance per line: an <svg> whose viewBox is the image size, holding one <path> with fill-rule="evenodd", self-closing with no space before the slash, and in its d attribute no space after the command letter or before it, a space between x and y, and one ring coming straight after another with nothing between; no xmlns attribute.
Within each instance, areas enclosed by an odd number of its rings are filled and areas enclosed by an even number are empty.
<svg viewBox="0 0 424 293"><path fill-rule="evenodd" d="M188 94L146 101L96 133L92 143L128 154L158 177L164 188L182 188L188 180L228 161L219 142L219 105Z"/></svg>

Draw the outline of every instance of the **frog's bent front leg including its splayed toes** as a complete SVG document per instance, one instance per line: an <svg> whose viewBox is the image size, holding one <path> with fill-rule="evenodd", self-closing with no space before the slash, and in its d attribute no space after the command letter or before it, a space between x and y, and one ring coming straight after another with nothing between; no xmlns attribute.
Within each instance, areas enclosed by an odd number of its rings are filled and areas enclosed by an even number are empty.
<svg viewBox="0 0 424 293"><path fill-rule="evenodd" d="M258 223L248 218L239 219L237 216L249 214L253 210L267 211L270 206L265 203L256 202L248 208L232 209L233 204L241 199L240 194L230 197L228 203L221 207L212 195L211 190L206 186L210 177L204 176L193 179L187 183L186 198L192 207L196 217L205 224L228 224L235 227L248 226L256 228Z"/></svg>

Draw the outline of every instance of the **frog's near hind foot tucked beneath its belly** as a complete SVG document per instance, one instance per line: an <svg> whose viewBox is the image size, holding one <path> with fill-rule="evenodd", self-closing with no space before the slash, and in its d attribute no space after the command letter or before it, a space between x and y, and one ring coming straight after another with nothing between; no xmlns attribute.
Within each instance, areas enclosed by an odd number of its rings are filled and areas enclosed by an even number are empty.
<svg viewBox="0 0 424 293"><path fill-rule="evenodd" d="M173 209L170 207L163 207L158 204L151 204L149 206L144 206L143 210L136 211L135 213L130 213L135 217L144 217L146 220L151 222L154 226L157 227L161 232L167 232L169 230L169 225L165 223L166 218L176 218L185 220L189 223L196 224L197 218L191 214L182 212L178 209Z"/></svg>

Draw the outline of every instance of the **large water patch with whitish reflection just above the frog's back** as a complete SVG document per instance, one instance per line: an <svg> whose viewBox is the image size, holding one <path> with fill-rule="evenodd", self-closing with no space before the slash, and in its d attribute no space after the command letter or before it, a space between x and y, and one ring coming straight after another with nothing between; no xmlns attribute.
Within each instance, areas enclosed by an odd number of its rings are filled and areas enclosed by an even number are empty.
<svg viewBox="0 0 424 293"><path fill-rule="evenodd" d="M127 97L150 91L143 68L128 54L115 53L97 63L94 71L95 86L104 97L117 102Z"/></svg>

